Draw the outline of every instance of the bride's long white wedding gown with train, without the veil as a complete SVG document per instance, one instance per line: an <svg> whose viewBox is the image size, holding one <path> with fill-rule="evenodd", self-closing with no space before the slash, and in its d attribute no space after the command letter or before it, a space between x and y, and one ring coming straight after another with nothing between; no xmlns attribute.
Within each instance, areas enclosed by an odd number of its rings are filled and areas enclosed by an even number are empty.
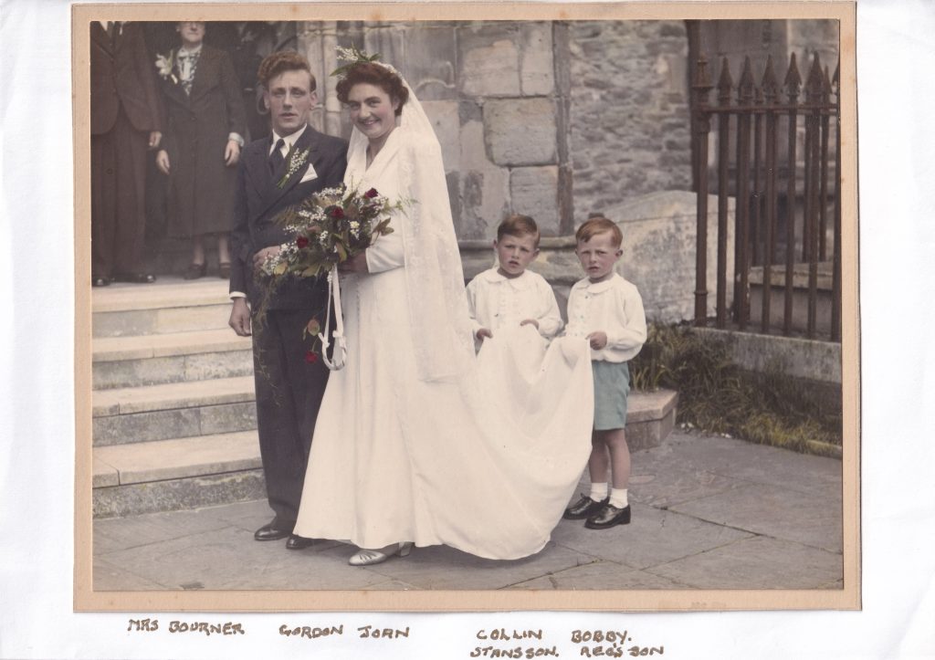
<svg viewBox="0 0 935 660"><path fill-rule="evenodd" d="M345 181L410 197L398 133L369 168L352 150ZM539 552L590 453L590 349L559 339L546 352L526 326L485 342L463 376L420 380L400 222L368 250L369 274L341 278L348 354L324 393L295 534L492 559Z"/></svg>

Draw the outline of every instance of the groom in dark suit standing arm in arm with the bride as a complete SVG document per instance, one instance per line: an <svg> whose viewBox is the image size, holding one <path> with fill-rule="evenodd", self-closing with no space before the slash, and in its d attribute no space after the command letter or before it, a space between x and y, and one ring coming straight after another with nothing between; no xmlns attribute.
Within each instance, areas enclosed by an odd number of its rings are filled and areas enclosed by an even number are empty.
<svg viewBox="0 0 935 660"><path fill-rule="evenodd" d="M348 145L308 125L318 98L305 57L275 52L260 65L257 78L273 135L253 141L240 159L231 232L234 307L229 324L237 335L253 337L256 425L266 495L276 514L253 538L288 538L286 548L299 550L311 544L292 532L328 379L327 368L309 353L310 340L303 338L303 330L312 318L324 325L327 282L291 279L274 289L258 269L292 240L276 222L277 215L343 180Z"/></svg>

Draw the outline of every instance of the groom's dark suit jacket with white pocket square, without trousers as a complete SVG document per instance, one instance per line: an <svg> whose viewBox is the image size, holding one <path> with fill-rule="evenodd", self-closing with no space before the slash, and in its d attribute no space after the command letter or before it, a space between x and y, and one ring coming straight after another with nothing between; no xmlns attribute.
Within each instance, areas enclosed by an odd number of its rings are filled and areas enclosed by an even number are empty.
<svg viewBox="0 0 935 660"><path fill-rule="evenodd" d="M338 185L347 168L348 143L339 137L325 136L311 126L295 142L296 151L309 149L309 158L280 188L277 183L288 170L288 163L269 172L269 151L272 137L255 140L241 154L237 171L237 196L234 208L234 228L231 232L230 290L247 294L255 310L265 296L268 309L319 308L324 305L327 288L320 280L290 278L270 292L268 280L253 276L253 254L274 245L281 245L291 236L276 222L282 210L298 204L311 194ZM314 167L318 177L300 182Z"/></svg>

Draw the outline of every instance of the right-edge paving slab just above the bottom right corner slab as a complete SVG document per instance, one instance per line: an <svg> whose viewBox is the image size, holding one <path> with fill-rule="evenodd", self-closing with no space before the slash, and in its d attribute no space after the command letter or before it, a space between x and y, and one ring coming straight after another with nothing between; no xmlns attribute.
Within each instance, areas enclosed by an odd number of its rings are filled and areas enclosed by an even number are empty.
<svg viewBox="0 0 935 660"><path fill-rule="evenodd" d="M670 511L772 538L841 552L841 500L751 483L719 495L683 502Z"/></svg>

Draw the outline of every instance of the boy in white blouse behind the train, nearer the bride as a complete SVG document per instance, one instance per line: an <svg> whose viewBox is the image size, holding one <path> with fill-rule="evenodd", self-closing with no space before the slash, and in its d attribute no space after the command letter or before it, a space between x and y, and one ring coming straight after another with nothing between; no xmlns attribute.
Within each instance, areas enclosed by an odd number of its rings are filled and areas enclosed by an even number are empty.
<svg viewBox="0 0 935 660"><path fill-rule="evenodd" d="M527 215L513 214L500 222L494 241L497 265L468 283L471 331L481 346L501 329L532 325L551 339L562 329L552 286L526 270L539 255L539 227Z"/></svg>

